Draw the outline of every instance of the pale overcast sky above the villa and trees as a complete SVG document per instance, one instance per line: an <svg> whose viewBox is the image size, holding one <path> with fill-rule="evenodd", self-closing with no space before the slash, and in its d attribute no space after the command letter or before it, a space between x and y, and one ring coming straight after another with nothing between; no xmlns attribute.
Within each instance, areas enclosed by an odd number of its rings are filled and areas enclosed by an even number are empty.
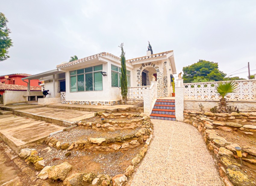
<svg viewBox="0 0 256 186"><path fill-rule="evenodd" d="M0 75L55 69L70 56L126 59L174 50L177 72L205 59L231 73L256 69L256 1L1 1L13 46ZM243 71L246 71L242 70ZM251 72L252 74L256 71ZM248 73L236 76L244 77Z"/></svg>

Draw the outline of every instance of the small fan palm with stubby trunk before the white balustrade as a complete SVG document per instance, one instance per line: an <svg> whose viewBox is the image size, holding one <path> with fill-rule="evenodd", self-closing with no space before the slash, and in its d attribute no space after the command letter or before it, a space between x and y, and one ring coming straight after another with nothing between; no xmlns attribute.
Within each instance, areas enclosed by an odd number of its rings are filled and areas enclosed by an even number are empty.
<svg viewBox="0 0 256 186"><path fill-rule="evenodd" d="M219 109L221 112L227 112L227 103L226 103L226 98L225 96L228 93L234 93L236 92L236 88L238 87L238 85L236 85L236 83L234 81L225 81L225 82L218 82L217 85L215 85L216 88L216 93L220 96L222 96L222 98L220 99L220 103L219 103Z"/></svg>

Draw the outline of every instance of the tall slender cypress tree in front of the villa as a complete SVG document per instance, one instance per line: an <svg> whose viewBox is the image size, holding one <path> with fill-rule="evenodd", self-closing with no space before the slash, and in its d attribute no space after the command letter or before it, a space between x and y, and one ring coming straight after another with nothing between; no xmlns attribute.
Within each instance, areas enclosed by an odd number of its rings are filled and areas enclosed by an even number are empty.
<svg viewBox="0 0 256 186"><path fill-rule="evenodd" d="M124 99L124 103L126 104L126 96L127 96L127 77L126 77L126 61L125 61L125 52L123 51L123 43L119 46L121 48L121 95Z"/></svg>

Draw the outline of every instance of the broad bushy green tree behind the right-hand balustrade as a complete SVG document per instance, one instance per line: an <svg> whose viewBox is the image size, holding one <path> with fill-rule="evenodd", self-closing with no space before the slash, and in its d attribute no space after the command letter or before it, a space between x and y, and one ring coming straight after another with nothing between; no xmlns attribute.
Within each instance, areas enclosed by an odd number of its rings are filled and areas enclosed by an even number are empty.
<svg viewBox="0 0 256 186"><path fill-rule="evenodd" d="M207 81L221 81L226 76L219 70L218 63L199 60L197 63L183 67L184 83L191 83L197 77Z"/></svg>

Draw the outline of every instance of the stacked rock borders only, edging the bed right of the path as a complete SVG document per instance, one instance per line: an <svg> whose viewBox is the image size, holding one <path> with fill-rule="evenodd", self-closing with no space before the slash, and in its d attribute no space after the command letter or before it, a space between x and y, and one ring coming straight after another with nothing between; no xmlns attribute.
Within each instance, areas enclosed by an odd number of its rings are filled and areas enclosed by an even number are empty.
<svg viewBox="0 0 256 186"><path fill-rule="evenodd" d="M251 116L252 115L252 116ZM190 125L193 125L202 133L204 141L207 144L207 148L214 152L214 158L219 162L219 173L222 181L226 186L233 185L255 185L251 179L241 171L241 165L236 163L234 158L239 158L236 155L235 147L239 147L238 144L228 142L224 137L218 135L214 129L224 130L228 132L240 131L245 135L255 135L256 126L254 125L242 125L236 122L243 122L241 120L249 120L248 117L254 117L256 113L202 113L202 112L189 112L184 111L184 121ZM234 118L230 118L234 117ZM241 118L242 117L242 118ZM247 117L246 119L244 117ZM224 119L220 119L224 118ZM239 119L236 120L236 119ZM215 121L214 121L215 120ZM217 120L217 121L216 121ZM230 122L233 120L234 122ZM229 121L229 122L223 122ZM248 132L245 132L248 131ZM249 133L249 134L246 134ZM242 147L243 160L248 163L256 164L256 148L254 147Z"/></svg>

